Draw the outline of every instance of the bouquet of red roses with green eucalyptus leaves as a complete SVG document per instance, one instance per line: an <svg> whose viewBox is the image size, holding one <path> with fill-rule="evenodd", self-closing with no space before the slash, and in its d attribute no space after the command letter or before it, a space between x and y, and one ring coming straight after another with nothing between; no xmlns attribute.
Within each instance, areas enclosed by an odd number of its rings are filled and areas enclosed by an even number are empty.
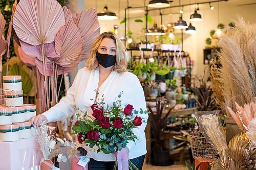
<svg viewBox="0 0 256 170"><path fill-rule="evenodd" d="M96 99L98 99L98 91L96 91ZM75 134L78 134L79 143L87 143L90 148L94 145L98 147L97 153L102 151L105 154L116 153L126 147L129 141L138 139L132 129L138 128L145 120L136 114L148 114L147 110L139 111L128 104L122 108L121 91L118 98L113 102L113 107L109 105L104 108L104 95L100 102L94 102L91 106L93 110L92 116L87 112L83 112L76 108L77 122L73 126ZM133 118L135 116L135 118ZM129 167L133 166L129 162ZM136 167L136 166L135 166ZM134 168L135 168L134 167Z"/></svg>

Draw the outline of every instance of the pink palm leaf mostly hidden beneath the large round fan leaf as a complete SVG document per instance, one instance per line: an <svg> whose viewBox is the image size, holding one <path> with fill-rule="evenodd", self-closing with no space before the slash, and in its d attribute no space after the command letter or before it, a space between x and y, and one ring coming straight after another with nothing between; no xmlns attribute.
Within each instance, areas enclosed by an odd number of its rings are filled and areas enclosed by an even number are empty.
<svg viewBox="0 0 256 170"><path fill-rule="evenodd" d="M56 54L54 42L46 43L43 45L40 44L36 46L26 43L22 40L19 40L19 42L20 42L20 46L22 47L22 50L29 56L42 58L42 46L43 46L44 57L50 57L50 58L59 57Z"/></svg>

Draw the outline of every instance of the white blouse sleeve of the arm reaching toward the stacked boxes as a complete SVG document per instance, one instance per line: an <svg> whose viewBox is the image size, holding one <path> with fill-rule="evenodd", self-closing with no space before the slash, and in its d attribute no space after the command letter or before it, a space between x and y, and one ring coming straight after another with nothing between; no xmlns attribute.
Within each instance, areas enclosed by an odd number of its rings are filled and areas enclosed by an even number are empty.
<svg viewBox="0 0 256 170"><path fill-rule="evenodd" d="M47 117L47 122L56 122L65 118L72 116L75 113L75 87L77 86L80 70L77 72L77 75L74 79L72 86L67 91L67 95L62 98L58 104L51 107L48 111L42 113Z"/></svg>

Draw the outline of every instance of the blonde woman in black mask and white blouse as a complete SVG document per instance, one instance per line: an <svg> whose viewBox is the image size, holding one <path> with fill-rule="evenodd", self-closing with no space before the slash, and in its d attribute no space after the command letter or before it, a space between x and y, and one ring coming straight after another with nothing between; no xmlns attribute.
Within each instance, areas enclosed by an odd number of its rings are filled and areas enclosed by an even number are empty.
<svg viewBox="0 0 256 170"><path fill-rule="evenodd" d="M87 67L80 69L76 78L67 91L67 96L60 100L54 107L45 113L37 115L31 119L36 127L42 121L55 122L70 117L75 113L74 107L87 111L92 114L90 106L96 97L95 89L98 90L99 100L104 94L104 102L111 105L117 98L120 91L123 108L127 104L133 105L136 110L142 108L146 110L144 92L138 78L126 69L125 47L119 38L112 32L100 34L91 50L91 56L87 60ZM147 114L139 115L143 120L147 120ZM146 124L143 123L139 128L134 129L138 137L136 142L127 143L130 160L142 169L144 155L146 154L145 130ZM91 161L89 169L113 169L116 159L113 154L96 153L93 149L85 147L90 154Z"/></svg>

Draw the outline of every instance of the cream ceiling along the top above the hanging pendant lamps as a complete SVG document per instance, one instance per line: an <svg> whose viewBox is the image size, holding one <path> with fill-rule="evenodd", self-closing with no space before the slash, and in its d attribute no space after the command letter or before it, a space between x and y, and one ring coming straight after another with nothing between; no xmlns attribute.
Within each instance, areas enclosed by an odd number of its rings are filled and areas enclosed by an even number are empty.
<svg viewBox="0 0 256 170"><path fill-rule="evenodd" d="M84 0L84 4L86 6L86 9L88 8L97 8L98 12L102 11L104 4L108 5L108 8L110 11L115 12L119 18L124 17L124 9L127 8L127 2L129 2L130 7L143 7L144 4L148 4L150 0ZM194 3L202 3L202 2L209 2L210 0L180 0L181 6L185 4L194 4ZM215 0L211 0L215 1ZM219 2L219 3L211 3L212 6L215 6L215 9L217 9L219 4L219 8L227 7L227 6L243 6L243 5L255 5L256 0L229 0L227 2ZM179 0L174 0L171 3L171 6L179 6ZM193 6L185 6L184 12L189 12L190 9L193 11L196 8L196 5ZM150 9L150 8L149 8ZM202 4L199 5L200 10L209 9L209 4ZM178 13L179 8L170 8L162 10L163 14L167 13ZM255 12L255 11L254 11ZM149 13L150 15L159 15L159 11L151 11ZM135 18L135 17L142 17L144 15L144 9L138 8L138 9L129 9L129 18Z"/></svg>

